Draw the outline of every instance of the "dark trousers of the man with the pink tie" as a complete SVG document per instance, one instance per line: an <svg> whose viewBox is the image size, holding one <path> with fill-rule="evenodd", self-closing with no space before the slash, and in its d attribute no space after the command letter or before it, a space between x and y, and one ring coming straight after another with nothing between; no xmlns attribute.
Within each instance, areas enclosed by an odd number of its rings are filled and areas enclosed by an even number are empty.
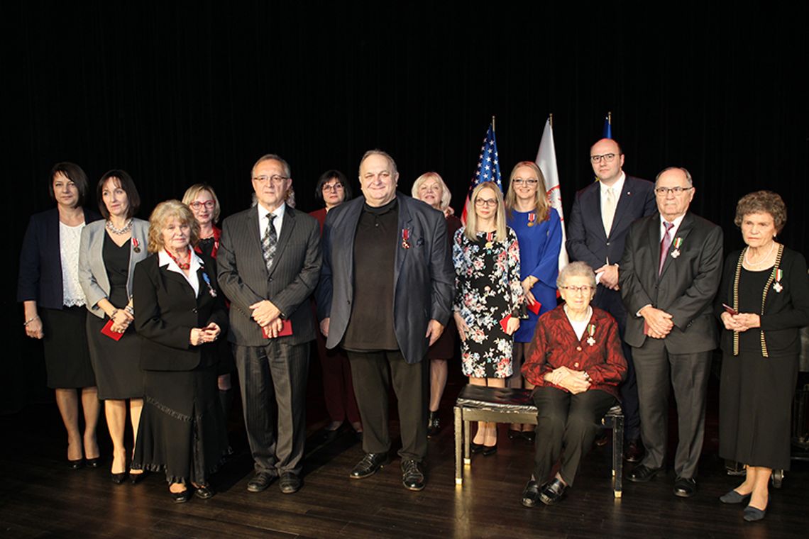
<svg viewBox="0 0 809 539"><path fill-rule="evenodd" d="M633 349L637 395L641 404L641 436L646 446L642 464L661 468L668 444L668 384L677 402L678 436L674 471L693 478L705 439L705 392L713 352L672 354L665 339L646 339Z"/></svg>

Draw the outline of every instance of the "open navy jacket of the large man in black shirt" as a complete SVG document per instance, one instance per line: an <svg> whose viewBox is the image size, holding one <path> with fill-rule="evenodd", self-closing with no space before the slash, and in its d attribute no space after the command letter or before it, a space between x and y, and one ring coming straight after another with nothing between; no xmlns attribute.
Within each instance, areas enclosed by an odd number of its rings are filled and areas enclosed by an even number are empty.
<svg viewBox="0 0 809 539"><path fill-rule="evenodd" d="M447 240L447 219L429 205L396 193L400 230L409 230L409 248L397 239L393 265L393 326L408 363L427 353L430 319L447 326L455 271ZM317 289L318 318L331 318L326 347L336 347L349 325L354 301L354 236L365 204L360 196L329 210L323 228L323 271ZM401 234L399 234L401 237Z"/></svg>

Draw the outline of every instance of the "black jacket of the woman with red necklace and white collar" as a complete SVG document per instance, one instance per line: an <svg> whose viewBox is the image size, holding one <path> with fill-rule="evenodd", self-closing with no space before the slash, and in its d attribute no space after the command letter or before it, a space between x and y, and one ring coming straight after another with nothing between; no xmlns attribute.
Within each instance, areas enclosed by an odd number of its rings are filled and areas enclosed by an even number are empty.
<svg viewBox="0 0 809 539"><path fill-rule="evenodd" d="M153 371L188 371L216 362L216 343L191 346L191 330L210 322L227 335L227 310L216 284L214 259L201 255L197 270L199 293L184 276L159 267L155 253L135 266L133 307L135 330L141 335L141 368ZM204 274L208 276L205 279ZM210 283L210 287L208 284ZM211 294L213 288L214 294Z"/></svg>

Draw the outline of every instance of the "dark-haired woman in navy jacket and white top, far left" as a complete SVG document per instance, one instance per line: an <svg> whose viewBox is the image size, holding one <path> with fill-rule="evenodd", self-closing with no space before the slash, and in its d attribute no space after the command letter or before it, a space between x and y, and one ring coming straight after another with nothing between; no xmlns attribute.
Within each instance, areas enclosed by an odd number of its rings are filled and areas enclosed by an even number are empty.
<svg viewBox="0 0 809 539"><path fill-rule="evenodd" d="M32 216L23 239L17 301L23 302L25 310L25 334L43 343L48 387L56 390L67 430L68 464L74 470L85 463L95 468L100 406L84 329L87 310L78 283L78 246L84 225L101 217L83 208L87 175L74 163L53 166L49 192L56 208ZM83 434L78 427L79 398Z"/></svg>

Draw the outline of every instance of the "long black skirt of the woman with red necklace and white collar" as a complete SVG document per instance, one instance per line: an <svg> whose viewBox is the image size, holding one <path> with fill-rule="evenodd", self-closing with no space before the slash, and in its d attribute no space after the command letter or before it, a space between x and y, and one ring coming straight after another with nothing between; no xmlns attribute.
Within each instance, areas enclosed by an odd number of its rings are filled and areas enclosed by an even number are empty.
<svg viewBox="0 0 809 539"><path fill-rule="evenodd" d="M146 371L132 467L163 471L172 482L207 482L228 452L215 365Z"/></svg>

